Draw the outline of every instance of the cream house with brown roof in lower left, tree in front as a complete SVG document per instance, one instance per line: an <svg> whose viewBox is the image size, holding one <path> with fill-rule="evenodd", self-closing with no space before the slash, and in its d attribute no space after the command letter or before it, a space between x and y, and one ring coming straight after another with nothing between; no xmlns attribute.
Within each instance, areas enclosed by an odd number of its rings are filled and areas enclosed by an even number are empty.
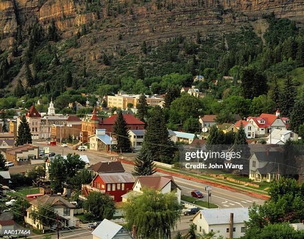
<svg viewBox="0 0 304 239"><path fill-rule="evenodd" d="M59 227L77 227L79 219L74 217L74 208L75 206L58 195L46 194L41 197L38 197L35 200L30 200L30 207L26 210L27 214L25 217L25 222L31 225L36 229L43 229L42 225L38 220L32 216L34 212L37 212L40 207L48 206L54 209L59 216ZM53 228L57 227L56 221L54 221Z"/></svg>

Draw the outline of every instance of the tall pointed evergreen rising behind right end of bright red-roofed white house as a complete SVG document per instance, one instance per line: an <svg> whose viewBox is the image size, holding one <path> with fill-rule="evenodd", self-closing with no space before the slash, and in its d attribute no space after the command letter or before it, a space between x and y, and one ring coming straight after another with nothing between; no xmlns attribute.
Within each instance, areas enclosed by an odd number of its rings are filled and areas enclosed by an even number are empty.
<svg viewBox="0 0 304 239"><path fill-rule="evenodd" d="M297 92L292 79L288 76L280 96L280 111L284 117L289 117L294 105Z"/></svg>

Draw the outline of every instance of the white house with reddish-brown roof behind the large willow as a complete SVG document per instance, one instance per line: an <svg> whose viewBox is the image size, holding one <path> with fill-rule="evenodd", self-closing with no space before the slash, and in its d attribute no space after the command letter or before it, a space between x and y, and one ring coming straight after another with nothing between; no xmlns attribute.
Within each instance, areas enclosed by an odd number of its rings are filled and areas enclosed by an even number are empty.
<svg viewBox="0 0 304 239"><path fill-rule="evenodd" d="M133 191L122 196L122 201L127 202L129 195L140 195L143 188L154 188L161 193L175 192L177 200L180 203L181 188L174 182L172 176L138 176L133 185Z"/></svg>

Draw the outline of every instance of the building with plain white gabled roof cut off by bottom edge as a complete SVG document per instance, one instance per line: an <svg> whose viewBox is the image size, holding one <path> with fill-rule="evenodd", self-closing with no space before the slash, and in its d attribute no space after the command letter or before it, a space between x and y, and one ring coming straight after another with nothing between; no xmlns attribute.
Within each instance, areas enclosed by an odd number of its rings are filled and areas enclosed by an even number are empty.
<svg viewBox="0 0 304 239"><path fill-rule="evenodd" d="M123 226L104 219L92 232L93 239L134 239Z"/></svg>

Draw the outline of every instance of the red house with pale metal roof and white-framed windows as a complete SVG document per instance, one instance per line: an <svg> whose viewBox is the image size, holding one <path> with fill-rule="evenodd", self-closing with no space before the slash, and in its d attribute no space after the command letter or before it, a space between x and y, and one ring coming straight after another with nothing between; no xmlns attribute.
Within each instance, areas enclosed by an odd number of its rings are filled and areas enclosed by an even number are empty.
<svg viewBox="0 0 304 239"><path fill-rule="evenodd" d="M107 193L115 202L121 202L121 196L132 190L134 182L131 173L98 173L90 187L86 187L86 189L88 189L88 193L89 191ZM83 186L85 185L82 185L82 191L84 191Z"/></svg>

